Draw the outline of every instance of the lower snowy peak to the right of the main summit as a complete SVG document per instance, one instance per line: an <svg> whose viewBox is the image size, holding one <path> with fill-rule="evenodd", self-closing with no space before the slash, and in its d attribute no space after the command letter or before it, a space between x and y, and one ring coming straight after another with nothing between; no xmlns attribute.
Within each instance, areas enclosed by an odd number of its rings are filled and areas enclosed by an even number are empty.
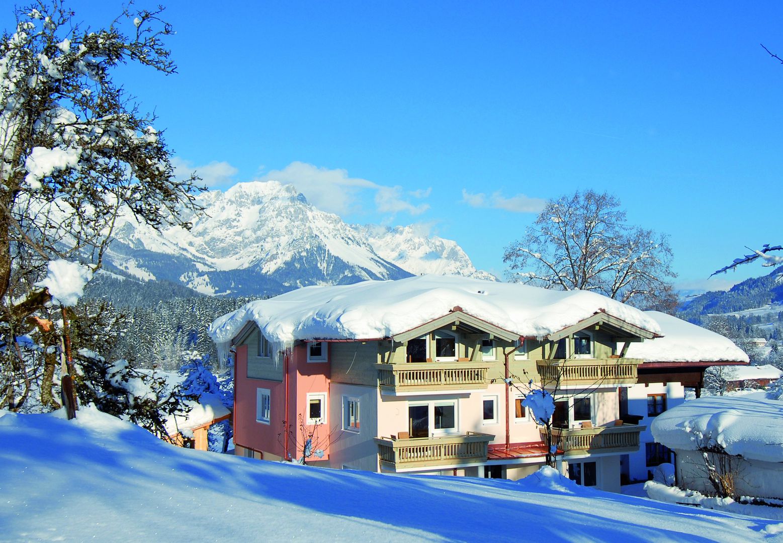
<svg viewBox="0 0 783 543"><path fill-rule="evenodd" d="M488 271L477 270L455 241L428 236L414 225L354 228L366 236L377 254L414 275L463 275L497 281Z"/></svg>

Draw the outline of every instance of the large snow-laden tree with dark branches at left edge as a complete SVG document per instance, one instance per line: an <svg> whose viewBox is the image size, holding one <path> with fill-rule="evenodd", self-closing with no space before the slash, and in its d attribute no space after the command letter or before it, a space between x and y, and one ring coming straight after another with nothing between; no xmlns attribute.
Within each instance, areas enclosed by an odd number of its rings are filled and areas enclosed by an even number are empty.
<svg viewBox="0 0 783 543"><path fill-rule="evenodd" d="M125 9L93 30L61 0L39 0L17 9L16 28L0 38L0 408L20 410L34 390L56 408L57 373L79 376L83 346L69 333L76 302L52 286L83 284L100 268L117 215L188 227L198 210L198 178L175 178L154 116L111 77L126 63L175 71L161 9ZM74 273L52 282L55 268ZM80 327L84 338L89 325ZM23 352L20 340L36 348ZM105 381L108 365L90 360L103 364L96 379ZM75 384L102 394L96 382Z"/></svg>

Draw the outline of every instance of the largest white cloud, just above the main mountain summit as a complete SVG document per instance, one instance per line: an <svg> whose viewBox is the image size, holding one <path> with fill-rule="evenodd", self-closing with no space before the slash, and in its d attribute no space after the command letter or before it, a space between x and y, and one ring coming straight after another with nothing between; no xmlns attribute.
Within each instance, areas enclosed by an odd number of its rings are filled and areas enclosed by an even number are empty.
<svg viewBox="0 0 783 543"><path fill-rule="evenodd" d="M403 195L400 186L384 186L363 178L348 177L348 171L336 168L330 170L304 162L292 162L282 170L272 170L263 174L259 181L278 181L294 185L314 206L320 210L345 216L355 207L359 194L363 191L375 192L375 205L381 213L396 214L400 211L417 215L428 210L429 205L410 203L410 198L426 198L430 189L419 189Z"/></svg>

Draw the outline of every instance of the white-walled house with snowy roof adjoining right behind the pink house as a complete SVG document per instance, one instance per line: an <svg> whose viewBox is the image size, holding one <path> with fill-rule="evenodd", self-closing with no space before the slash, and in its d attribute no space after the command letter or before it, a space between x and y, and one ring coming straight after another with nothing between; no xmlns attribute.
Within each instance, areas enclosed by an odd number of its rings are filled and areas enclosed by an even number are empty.
<svg viewBox="0 0 783 543"><path fill-rule="evenodd" d="M671 461L669 449L655 442L650 425L685 401L686 388L699 397L709 366L727 367L726 372L749 369L736 366L747 365L748 355L728 338L659 311L645 315L655 319L663 337L628 347L628 356L644 362L637 369L638 383L619 391L620 414L626 420L637 419L647 430L641 433L639 451L623 458L623 482L651 479L655 466Z"/></svg>

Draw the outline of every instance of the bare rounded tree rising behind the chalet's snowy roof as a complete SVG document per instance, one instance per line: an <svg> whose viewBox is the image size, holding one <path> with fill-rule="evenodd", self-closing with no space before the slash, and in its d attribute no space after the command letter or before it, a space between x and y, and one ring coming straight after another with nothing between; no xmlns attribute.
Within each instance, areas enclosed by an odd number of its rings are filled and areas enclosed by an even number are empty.
<svg viewBox="0 0 783 543"><path fill-rule="evenodd" d="M506 247L507 278L560 290L591 290L638 307L673 311L667 236L626 223L607 192L549 200L525 236Z"/></svg>

